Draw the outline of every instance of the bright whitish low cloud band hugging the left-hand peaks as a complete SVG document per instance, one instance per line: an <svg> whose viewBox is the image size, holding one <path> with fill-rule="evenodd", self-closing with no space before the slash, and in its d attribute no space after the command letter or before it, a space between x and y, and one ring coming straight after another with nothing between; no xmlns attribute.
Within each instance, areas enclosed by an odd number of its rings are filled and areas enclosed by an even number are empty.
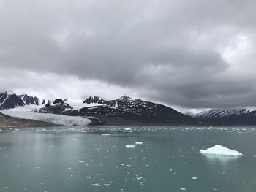
<svg viewBox="0 0 256 192"><path fill-rule="evenodd" d="M7 81L6 79L12 79ZM97 80L80 80L70 75L37 73L18 70L4 70L0 77L0 93L12 90L15 93L28 93L40 99L86 99L91 94L102 96L104 99L117 99L124 93L138 97L134 89L121 88Z"/></svg>

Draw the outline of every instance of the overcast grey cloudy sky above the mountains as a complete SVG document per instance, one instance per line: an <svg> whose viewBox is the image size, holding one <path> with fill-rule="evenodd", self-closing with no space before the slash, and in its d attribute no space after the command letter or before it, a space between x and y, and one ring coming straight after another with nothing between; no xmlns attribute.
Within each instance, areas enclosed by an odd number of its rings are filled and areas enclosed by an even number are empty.
<svg viewBox="0 0 256 192"><path fill-rule="evenodd" d="M255 106L255 0L0 0L0 92Z"/></svg>

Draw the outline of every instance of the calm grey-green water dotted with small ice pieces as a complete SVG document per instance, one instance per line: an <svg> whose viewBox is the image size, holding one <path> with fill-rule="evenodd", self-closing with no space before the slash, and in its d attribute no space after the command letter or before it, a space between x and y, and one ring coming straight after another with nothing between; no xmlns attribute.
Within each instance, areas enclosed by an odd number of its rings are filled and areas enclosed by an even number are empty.
<svg viewBox="0 0 256 192"><path fill-rule="evenodd" d="M244 156L199 153L215 144ZM240 126L1 131L0 191L255 192L255 146L256 127Z"/></svg>

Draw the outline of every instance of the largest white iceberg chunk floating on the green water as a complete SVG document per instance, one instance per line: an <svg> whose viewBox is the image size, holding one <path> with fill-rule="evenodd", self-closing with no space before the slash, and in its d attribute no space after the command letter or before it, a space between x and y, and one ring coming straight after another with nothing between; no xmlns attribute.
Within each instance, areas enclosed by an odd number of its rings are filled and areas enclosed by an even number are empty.
<svg viewBox="0 0 256 192"><path fill-rule="evenodd" d="M236 150L230 150L227 147L222 145L215 145L214 147L208 148L206 150L200 150L200 153L209 154L209 155L225 155L225 156L241 156L242 153L239 153Z"/></svg>

